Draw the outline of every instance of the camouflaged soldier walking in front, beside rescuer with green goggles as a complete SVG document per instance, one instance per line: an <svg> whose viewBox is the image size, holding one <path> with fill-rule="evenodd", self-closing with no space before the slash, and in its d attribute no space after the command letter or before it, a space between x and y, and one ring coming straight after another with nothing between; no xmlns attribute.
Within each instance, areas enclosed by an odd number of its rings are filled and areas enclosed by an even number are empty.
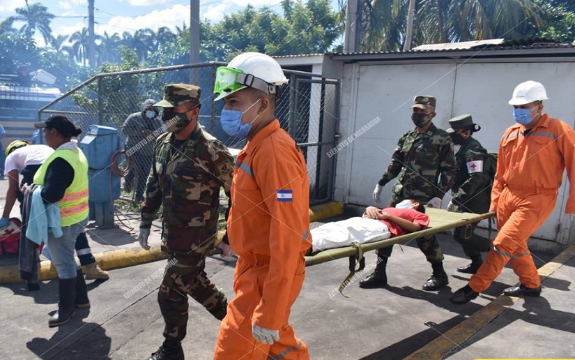
<svg viewBox="0 0 575 360"><path fill-rule="evenodd" d="M139 241L149 248L152 221L162 206L162 251L168 254L158 303L164 317L164 343L149 360L184 359L187 295L215 318L226 315L227 299L204 271L206 250L217 234L220 188L229 197L233 158L227 147L197 121L200 88L170 84L164 89L162 120L168 132L155 141L154 165L141 207ZM227 239L219 245L229 255Z"/></svg>

